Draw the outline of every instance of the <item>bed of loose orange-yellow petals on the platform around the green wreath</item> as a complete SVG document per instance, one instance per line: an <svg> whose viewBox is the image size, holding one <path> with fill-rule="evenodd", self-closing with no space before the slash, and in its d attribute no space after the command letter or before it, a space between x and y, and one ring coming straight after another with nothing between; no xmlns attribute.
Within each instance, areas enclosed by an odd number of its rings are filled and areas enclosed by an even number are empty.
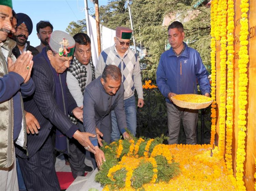
<svg viewBox="0 0 256 191"><path fill-rule="evenodd" d="M219 154L218 147L211 150L210 145L166 145L175 161L180 163L181 173L168 182L144 184L141 189L146 191L167 190L228 190L237 191L236 179L228 174L224 158ZM140 160L140 159L137 159ZM153 161L153 160L152 160ZM137 165L139 162L130 157L122 158L122 164ZM154 163L154 162L153 162ZM154 164L155 165L155 164ZM104 191L111 190L108 185ZM136 189L117 188L117 191L136 191Z"/></svg>

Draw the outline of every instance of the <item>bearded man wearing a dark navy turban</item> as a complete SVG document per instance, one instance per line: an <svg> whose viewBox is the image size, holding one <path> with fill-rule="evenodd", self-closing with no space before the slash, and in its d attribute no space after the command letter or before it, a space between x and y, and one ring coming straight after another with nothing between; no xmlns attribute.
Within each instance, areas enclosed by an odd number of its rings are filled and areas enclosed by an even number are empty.
<svg viewBox="0 0 256 191"><path fill-rule="evenodd" d="M39 53L38 50L35 47L31 46L28 41L28 36L32 33L33 29L32 20L28 15L24 13L17 13L16 17L17 28L14 38L17 42L17 45L12 50L13 54L17 58L23 51L29 50L30 52L32 52L33 56L37 55Z"/></svg>

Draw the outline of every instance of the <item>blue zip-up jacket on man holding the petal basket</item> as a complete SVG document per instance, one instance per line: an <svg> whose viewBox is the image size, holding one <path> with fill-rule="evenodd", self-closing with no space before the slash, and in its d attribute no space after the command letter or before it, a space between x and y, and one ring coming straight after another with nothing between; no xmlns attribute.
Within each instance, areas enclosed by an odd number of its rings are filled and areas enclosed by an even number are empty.
<svg viewBox="0 0 256 191"><path fill-rule="evenodd" d="M156 83L166 98L170 92L176 94L197 93L197 82L199 89L204 95L210 93L211 86L208 72L202 63L200 54L185 44L185 50L180 56L176 56L172 48L165 51L159 61L156 71Z"/></svg>

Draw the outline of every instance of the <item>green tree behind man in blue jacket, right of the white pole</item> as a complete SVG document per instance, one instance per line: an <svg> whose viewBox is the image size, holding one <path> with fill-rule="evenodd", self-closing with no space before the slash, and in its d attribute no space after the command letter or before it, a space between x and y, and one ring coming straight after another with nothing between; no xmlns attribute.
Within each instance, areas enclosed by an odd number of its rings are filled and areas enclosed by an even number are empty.
<svg viewBox="0 0 256 191"><path fill-rule="evenodd" d="M184 24L185 41L201 54L204 65L210 71L210 8L202 5L194 8L196 2L198 0L158 0L157 3L152 0L132 1L135 37L138 41L143 41L151 55L146 60L141 60L148 63L147 69L143 71L144 79L150 77L155 80L160 55L165 51L165 45L169 44L167 27L162 26L163 18L168 14L178 16L175 20L180 20ZM195 9L197 10L193 11ZM182 21L188 13L193 19L188 22Z"/></svg>

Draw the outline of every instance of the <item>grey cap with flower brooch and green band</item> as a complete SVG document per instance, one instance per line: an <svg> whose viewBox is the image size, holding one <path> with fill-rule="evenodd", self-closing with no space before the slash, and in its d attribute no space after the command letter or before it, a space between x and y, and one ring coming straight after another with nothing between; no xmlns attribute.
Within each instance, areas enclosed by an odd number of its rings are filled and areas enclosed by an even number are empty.
<svg viewBox="0 0 256 191"><path fill-rule="evenodd" d="M59 56L70 57L74 53L75 40L68 33L53 31L49 39L49 46Z"/></svg>

